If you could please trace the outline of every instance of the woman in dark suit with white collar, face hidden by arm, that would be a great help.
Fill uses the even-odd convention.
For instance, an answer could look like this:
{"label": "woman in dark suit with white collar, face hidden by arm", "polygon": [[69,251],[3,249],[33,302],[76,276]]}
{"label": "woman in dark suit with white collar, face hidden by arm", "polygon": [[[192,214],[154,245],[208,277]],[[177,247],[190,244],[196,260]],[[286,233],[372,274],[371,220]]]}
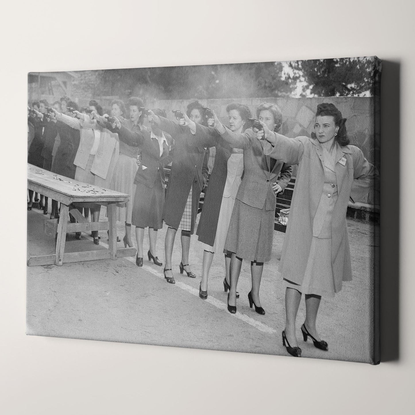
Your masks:
{"label": "woman in dark suit with white collar, face hidden by arm", "polygon": [[[160,113],[161,110],[154,110]],[[164,112],[164,115],[166,113]],[[132,206],[132,225],[135,226],[137,239],[137,266],[143,266],[144,229],[149,228],[150,249],[147,252],[149,261],[163,265],[156,255],[157,230],[163,227],[164,206],[164,166],[171,162],[171,136],[151,124],[151,132],[141,130],[132,132],[115,118],[120,141],[129,146],[140,147],[141,165],[134,178],[136,191]]]}

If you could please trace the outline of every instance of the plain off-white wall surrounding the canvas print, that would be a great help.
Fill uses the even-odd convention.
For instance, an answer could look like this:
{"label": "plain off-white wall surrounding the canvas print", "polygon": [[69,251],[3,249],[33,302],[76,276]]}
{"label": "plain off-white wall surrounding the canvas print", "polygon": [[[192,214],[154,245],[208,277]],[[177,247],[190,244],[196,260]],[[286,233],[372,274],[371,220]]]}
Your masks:
{"label": "plain off-white wall surrounding the canvas print", "polygon": [[[7,100],[3,99],[0,104],[4,155],[0,207],[1,413],[413,413],[413,2],[6,2],[2,12],[5,18],[0,27],[3,39],[0,79],[3,98]],[[73,37],[69,37],[69,29]],[[340,361],[24,334],[26,168],[23,155],[27,151],[27,130],[22,120],[26,114],[29,71],[372,54],[400,63],[400,122],[384,114],[384,122],[392,125],[388,127],[388,136],[383,137],[383,143],[396,142],[401,149],[399,165],[395,161],[392,164],[388,154],[383,155],[383,178],[389,178],[390,184],[390,188],[384,188],[383,195],[395,209],[395,216],[382,220],[383,233],[388,228],[400,227],[399,273],[381,268],[386,272],[387,281],[399,281],[400,327],[398,331],[384,333],[391,342],[400,343],[399,361],[373,367]],[[384,71],[383,76],[383,86],[387,89],[387,84],[394,80],[388,79],[391,72]],[[398,184],[393,179],[399,171]],[[400,207],[397,207],[398,200],[388,198],[393,186],[401,188]],[[400,212],[400,223],[396,212]],[[384,243],[387,253],[395,249],[396,239]],[[47,267],[44,272],[48,272]],[[383,305],[390,301],[386,295]],[[335,307],[334,301],[332,304]],[[224,315],[224,318],[232,317]],[[386,315],[386,320],[391,319],[393,316]],[[275,342],[281,342],[281,338],[276,336]]]}

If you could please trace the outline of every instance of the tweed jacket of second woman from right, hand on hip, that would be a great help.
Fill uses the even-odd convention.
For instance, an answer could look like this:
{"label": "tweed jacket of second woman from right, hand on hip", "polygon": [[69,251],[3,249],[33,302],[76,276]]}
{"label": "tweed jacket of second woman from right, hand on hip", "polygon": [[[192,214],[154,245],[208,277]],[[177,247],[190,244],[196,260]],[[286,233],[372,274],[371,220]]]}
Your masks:
{"label": "tweed jacket of second woman from right, hand on hip", "polygon": [[[272,185],[278,181],[283,161],[277,160],[271,170],[270,157],[264,154],[264,140],[258,140],[250,128],[243,133],[235,133],[225,127],[222,139],[231,147],[244,150],[244,178],[236,198],[251,207],[275,210],[276,196]],[[291,174],[289,176],[291,178]],[[290,180],[288,175],[285,180],[279,181],[283,190],[288,184],[287,179]]]}

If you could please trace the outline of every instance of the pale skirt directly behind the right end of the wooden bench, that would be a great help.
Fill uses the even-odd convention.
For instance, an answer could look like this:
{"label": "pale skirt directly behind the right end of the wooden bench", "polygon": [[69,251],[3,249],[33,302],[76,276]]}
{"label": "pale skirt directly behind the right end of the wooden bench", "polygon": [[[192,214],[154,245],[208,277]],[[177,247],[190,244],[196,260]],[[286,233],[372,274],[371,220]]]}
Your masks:
{"label": "pale skirt directly behind the right end of the wooden bench", "polygon": [[131,223],[132,220],[132,207],[136,193],[134,178],[137,170],[136,159],[120,153],[110,183],[112,190],[130,195],[127,202],[117,203],[117,220],[120,222]]}

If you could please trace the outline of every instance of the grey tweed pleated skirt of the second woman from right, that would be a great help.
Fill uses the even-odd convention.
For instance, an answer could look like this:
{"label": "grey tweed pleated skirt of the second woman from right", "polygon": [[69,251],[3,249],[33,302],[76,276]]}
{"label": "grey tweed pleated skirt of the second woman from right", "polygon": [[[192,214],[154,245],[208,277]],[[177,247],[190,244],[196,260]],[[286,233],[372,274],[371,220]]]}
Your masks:
{"label": "grey tweed pleated skirt of the second woman from right", "polygon": [[275,210],[249,206],[235,200],[225,249],[247,261],[271,259]]}

